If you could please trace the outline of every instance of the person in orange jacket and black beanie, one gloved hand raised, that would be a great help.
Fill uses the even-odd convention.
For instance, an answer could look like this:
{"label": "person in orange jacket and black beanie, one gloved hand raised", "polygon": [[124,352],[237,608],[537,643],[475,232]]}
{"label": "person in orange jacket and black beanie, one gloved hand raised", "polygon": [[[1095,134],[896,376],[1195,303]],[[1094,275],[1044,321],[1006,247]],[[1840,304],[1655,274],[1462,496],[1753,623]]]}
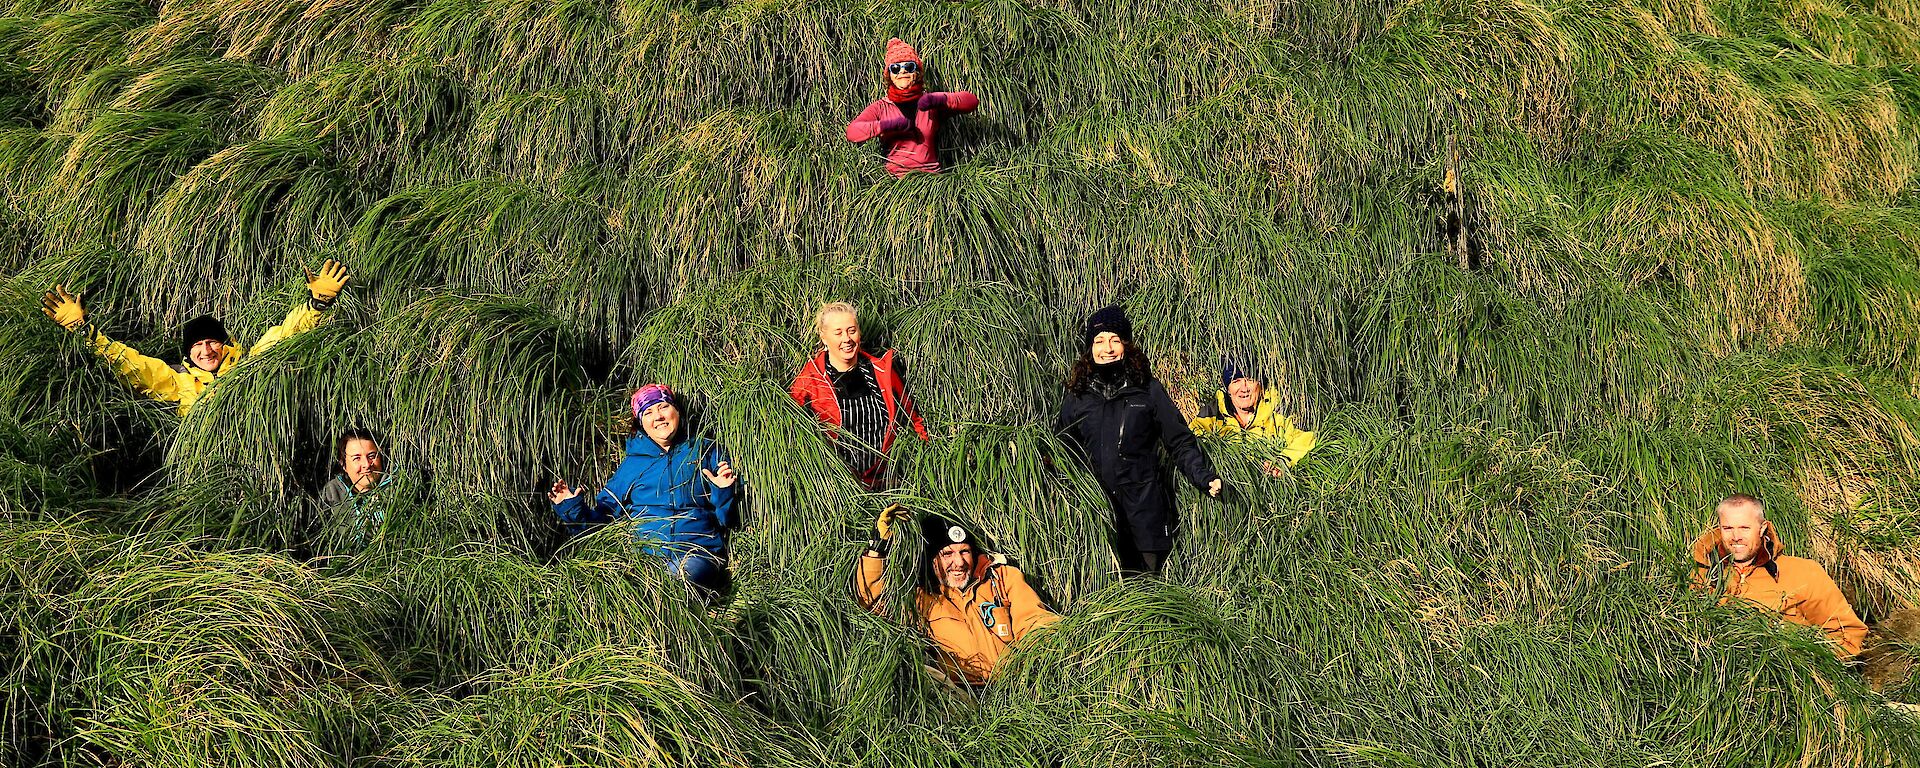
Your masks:
{"label": "person in orange jacket and black beanie, one gloved hand raised", "polygon": [[[879,513],[879,538],[860,555],[856,597],[868,611],[881,612],[887,549],[895,522],[904,516],[900,505]],[[1014,643],[1060,616],[1046,611],[1020,568],[1006,564],[1000,555],[981,551],[966,528],[939,516],[922,518],[920,528],[925,532],[925,551],[920,559],[914,612],[922,630],[941,647],[939,662],[948,680],[968,687],[985,685]]]}

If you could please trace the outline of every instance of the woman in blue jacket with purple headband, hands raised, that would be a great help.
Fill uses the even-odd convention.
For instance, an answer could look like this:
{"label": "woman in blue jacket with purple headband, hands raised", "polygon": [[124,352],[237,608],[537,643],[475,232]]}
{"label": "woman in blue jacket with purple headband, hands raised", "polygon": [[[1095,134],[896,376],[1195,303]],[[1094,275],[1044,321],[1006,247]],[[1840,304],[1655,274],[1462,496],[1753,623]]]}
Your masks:
{"label": "woman in blue jacket with purple headband, hands raised", "polygon": [[647,384],[634,392],[634,436],[626,459],[599,493],[584,497],[555,482],[547,492],[561,522],[624,524],[647,555],[703,591],[728,591],[726,528],[733,524],[739,474],[726,451],[707,438],[687,438],[674,392]]}

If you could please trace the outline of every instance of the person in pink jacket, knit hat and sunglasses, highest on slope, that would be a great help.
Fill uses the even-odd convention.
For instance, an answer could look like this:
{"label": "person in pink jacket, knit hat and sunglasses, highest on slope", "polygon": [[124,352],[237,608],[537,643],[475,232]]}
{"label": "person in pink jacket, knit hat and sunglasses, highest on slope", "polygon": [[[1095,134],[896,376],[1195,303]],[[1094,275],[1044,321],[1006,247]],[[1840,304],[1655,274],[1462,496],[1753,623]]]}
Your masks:
{"label": "person in pink jacket, knit hat and sunglasses, highest on slope", "polygon": [[929,94],[922,83],[920,52],[900,38],[887,40],[887,98],[868,104],[847,123],[847,140],[887,142],[887,173],[904,177],[910,171],[939,173],[939,131],[947,115],[979,109],[979,96],[966,90]]}

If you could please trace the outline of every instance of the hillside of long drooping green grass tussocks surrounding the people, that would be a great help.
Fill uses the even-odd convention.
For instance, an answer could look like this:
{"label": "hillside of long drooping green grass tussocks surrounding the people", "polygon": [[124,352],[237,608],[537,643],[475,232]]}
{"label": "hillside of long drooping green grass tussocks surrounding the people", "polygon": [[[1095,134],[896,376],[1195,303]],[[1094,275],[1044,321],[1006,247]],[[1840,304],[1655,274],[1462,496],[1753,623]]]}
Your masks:
{"label": "hillside of long drooping green grass tussocks surrounding the people", "polygon": [[[981,94],[950,173],[843,138],[887,36]],[[1916,67],[1912,0],[0,0],[0,764],[1920,764],[1891,632],[1682,588],[1740,490],[1914,609]],[[324,257],[184,419],[38,311],[252,340]],[[824,300],[912,361],[897,495],[1068,616],[979,701],[849,595]],[[1208,444],[1165,584],[1048,434],[1116,300],[1321,436]],[[653,380],[745,476],[712,616],[541,495]],[[365,547],[351,424],[430,492]]]}

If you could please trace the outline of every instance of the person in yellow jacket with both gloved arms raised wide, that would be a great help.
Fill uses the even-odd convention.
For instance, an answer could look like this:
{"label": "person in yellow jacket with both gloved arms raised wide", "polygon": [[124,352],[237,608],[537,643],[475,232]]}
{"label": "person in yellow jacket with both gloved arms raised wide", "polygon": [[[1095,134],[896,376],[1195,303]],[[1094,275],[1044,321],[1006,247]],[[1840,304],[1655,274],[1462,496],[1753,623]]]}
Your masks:
{"label": "person in yellow jacket with both gloved arms raised wide", "polygon": [[180,326],[179,363],[142,355],[138,349],[108,338],[100,328],[86,323],[86,309],[81,298],[67,292],[67,286],[54,286],[40,300],[40,311],[71,332],[84,332],[88,346],[104,357],[121,378],[165,403],[180,403],[180,413],[194,407],[194,401],[207,392],[213,382],[225,376],[242,359],[259,355],[275,344],[313,330],[321,323],[321,313],[332,307],[340,292],[346,290],[348,269],[340,261],[326,259],[321,273],[307,273],[307,300],[296,305],[280,324],[269,328],[253,348],[234,344],[227,326],[211,315],[200,315]]}

